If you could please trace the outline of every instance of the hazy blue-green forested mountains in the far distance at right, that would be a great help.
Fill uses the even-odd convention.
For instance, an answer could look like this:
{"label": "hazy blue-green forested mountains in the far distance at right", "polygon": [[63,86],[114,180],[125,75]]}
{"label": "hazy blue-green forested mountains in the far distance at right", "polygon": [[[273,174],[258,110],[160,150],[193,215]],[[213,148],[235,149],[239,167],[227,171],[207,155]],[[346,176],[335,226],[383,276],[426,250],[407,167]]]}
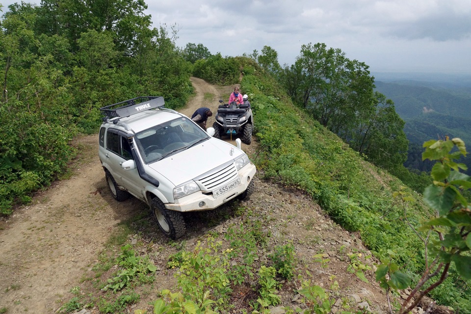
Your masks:
{"label": "hazy blue-green forested mountains in the far distance at right", "polygon": [[[381,75],[380,75],[381,77]],[[421,162],[423,142],[449,136],[459,137],[471,147],[471,76],[462,79],[430,76],[428,81],[382,76],[376,89],[394,102],[405,121],[410,141],[406,167],[429,171],[431,164]],[[424,79],[424,78],[423,78]],[[471,158],[463,160],[471,169]],[[468,171],[470,172],[470,170]]]}

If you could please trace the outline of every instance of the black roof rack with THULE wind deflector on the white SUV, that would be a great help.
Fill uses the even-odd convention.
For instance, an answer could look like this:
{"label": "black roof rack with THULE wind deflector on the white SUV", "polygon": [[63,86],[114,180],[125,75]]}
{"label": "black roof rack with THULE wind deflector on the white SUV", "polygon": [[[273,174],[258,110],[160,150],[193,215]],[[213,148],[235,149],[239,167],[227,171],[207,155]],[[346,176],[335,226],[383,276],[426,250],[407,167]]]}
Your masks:
{"label": "black roof rack with THULE wind deflector on the white SUV", "polygon": [[165,105],[165,101],[161,96],[143,96],[101,107],[100,112],[109,118],[129,117],[145,110],[160,108],[163,105]]}

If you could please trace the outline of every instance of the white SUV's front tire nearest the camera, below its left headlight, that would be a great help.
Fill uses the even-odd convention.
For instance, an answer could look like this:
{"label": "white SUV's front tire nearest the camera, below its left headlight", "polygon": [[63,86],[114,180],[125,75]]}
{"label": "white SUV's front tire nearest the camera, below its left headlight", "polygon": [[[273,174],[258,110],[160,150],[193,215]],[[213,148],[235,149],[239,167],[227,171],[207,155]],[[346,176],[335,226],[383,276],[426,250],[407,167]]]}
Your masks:
{"label": "white SUV's front tire nearest the camera, below its left headlight", "polygon": [[186,233],[186,224],[180,211],[166,209],[158,197],[152,200],[151,210],[158,227],[168,237],[175,240]]}

